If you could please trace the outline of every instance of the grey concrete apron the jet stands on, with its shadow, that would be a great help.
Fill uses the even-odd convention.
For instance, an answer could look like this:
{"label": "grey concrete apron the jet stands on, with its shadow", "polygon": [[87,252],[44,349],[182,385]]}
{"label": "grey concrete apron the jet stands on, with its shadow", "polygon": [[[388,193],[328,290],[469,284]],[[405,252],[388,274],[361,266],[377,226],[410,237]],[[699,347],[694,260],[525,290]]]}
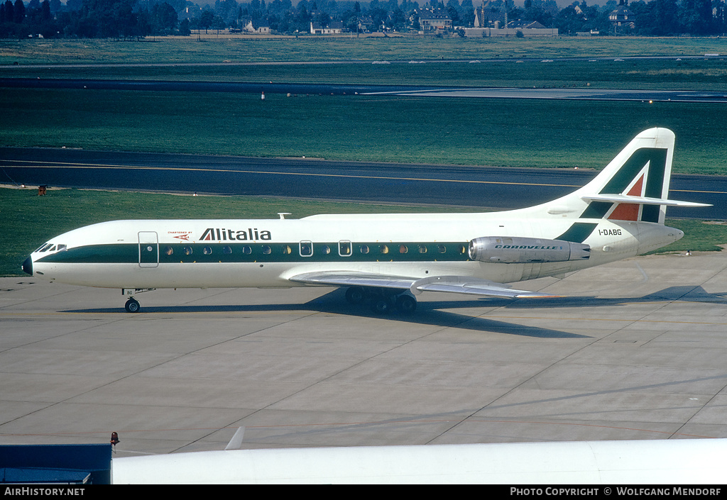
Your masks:
{"label": "grey concrete apron the jet stands on, with its shadow", "polygon": [[726,438],[727,259],[521,283],[560,299],[118,290],[0,278],[0,443],[242,448]]}

